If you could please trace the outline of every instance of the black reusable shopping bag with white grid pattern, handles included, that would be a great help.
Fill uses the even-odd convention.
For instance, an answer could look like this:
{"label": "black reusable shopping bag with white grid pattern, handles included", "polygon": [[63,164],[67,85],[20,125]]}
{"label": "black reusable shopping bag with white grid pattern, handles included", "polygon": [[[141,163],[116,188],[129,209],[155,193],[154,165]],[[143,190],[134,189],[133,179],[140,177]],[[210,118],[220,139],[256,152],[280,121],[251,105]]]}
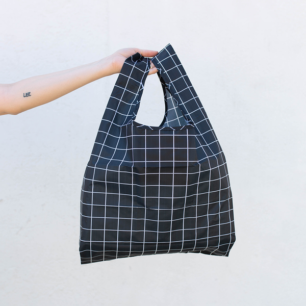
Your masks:
{"label": "black reusable shopping bag with white grid pattern, handles included", "polygon": [[123,64],[81,192],[81,263],[146,254],[228,256],[235,242],[226,161],[171,45],[152,62],[165,97],[160,126],[135,122],[150,59]]}

